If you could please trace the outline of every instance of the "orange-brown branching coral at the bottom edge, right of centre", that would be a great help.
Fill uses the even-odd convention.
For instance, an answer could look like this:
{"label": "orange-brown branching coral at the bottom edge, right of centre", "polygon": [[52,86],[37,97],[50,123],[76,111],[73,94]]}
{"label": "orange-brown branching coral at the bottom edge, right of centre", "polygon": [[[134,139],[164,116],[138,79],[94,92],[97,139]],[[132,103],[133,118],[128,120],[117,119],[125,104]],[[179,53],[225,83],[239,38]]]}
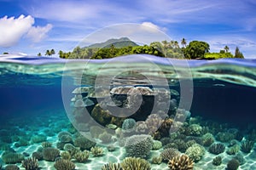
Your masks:
{"label": "orange-brown branching coral at the bottom edge, right of centre", "polygon": [[171,170],[193,170],[194,162],[189,156],[175,156],[168,161],[168,167]]}

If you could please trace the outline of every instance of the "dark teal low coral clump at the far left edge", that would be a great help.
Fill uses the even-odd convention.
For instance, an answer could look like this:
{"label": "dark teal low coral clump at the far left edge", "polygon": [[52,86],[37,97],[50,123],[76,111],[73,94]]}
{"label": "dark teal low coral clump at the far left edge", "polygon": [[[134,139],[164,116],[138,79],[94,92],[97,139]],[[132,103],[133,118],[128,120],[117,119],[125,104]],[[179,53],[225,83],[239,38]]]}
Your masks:
{"label": "dark teal low coral clump at the far left edge", "polygon": [[23,161],[24,156],[19,153],[5,151],[3,152],[2,159],[6,164],[15,164]]}

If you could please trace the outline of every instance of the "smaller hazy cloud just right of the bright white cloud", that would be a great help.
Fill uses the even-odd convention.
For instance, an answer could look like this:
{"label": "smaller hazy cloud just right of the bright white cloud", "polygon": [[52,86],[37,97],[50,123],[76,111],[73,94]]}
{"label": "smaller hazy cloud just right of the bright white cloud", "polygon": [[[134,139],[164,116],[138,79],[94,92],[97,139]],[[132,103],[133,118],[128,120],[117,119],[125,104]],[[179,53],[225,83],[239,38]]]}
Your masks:
{"label": "smaller hazy cloud just right of the bright white cloud", "polygon": [[41,26],[32,26],[31,29],[27,32],[26,37],[31,38],[32,42],[40,42],[48,31],[52,29],[52,25],[48,24],[44,27]]}

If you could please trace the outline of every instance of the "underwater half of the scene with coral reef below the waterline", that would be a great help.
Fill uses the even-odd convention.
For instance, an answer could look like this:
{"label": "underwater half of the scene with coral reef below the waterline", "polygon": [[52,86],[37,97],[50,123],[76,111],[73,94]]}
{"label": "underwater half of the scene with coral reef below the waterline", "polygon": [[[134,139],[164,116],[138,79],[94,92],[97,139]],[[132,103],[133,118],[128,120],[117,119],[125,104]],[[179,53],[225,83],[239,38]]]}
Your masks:
{"label": "underwater half of the scene with coral reef below the waterline", "polygon": [[254,170],[256,59],[0,57],[6,170]]}

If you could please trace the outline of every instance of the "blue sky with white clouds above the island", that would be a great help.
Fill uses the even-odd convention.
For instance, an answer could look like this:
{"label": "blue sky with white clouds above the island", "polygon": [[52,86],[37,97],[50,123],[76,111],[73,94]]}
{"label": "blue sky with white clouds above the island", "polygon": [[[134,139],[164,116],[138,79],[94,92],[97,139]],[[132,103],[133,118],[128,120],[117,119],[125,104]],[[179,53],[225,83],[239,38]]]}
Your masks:
{"label": "blue sky with white clouds above the island", "polygon": [[255,0],[0,0],[0,54],[71,51],[81,42],[129,37],[240,48],[256,58]]}

